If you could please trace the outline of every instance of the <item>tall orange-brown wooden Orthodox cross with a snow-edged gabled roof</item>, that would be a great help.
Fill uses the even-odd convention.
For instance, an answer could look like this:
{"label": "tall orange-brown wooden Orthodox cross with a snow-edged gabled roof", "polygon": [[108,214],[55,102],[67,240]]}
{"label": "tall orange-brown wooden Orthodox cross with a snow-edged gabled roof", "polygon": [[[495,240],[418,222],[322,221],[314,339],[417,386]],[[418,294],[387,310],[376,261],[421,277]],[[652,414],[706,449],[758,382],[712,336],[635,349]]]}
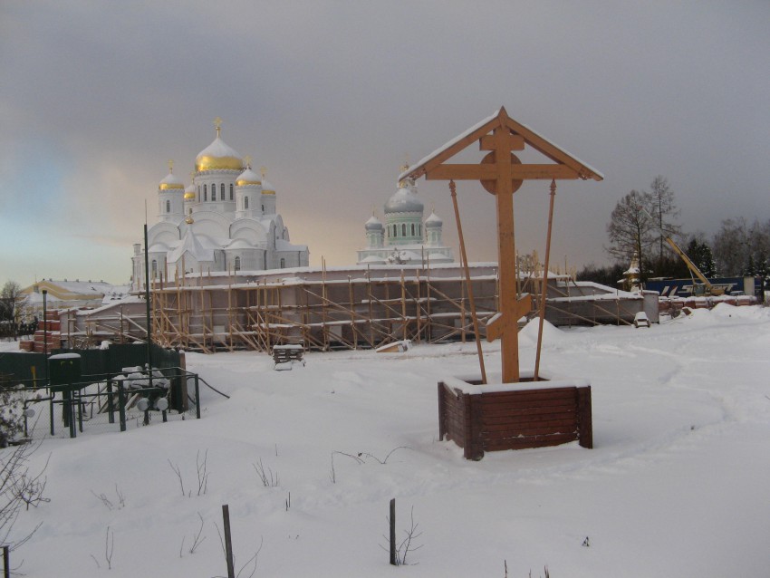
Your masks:
{"label": "tall orange-brown wooden Orthodox cross with a snow-edged gabled roof", "polygon": [[[478,140],[481,150],[489,150],[479,164],[445,164],[458,152]],[[522,164],[511,151],[526,145],[538,150],[552,163]],[[514,193],[528,179],[593,178],[602,174],[565,150],[544,139],[534,130],[508,117],[505,108],[482,120],[443,148],[431,153],[403,172],[402,178],[441,180],[479,180],[495,195],[497,213],[497,262],[500,275],[500,312],[487,324],[488,341],[501,339],[503,383],[519,381],[519,351],[517,321],[531,310],[530,296],[516,295],[516,265],[514,238]]]}

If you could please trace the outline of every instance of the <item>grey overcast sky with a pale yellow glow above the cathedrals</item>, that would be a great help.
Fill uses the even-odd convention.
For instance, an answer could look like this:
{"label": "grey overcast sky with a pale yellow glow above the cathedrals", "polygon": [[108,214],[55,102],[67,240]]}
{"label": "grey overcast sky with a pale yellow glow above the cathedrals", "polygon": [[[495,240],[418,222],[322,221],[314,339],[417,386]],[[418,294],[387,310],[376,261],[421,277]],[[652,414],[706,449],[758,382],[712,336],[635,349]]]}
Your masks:
{"label": "grey overcast sky with a pale yellow glow above the cathedrals", "polygon": [[[151,224],[217,116],[311,265],[354,263],[404,161],[501,105],[605,175],[559,183],[556,262],[609,262],[612,208],[656,175],[688,232],[765,221],[768,31],[766,0],[2,0],[0,284],[128,282],[145,201]],[[418,184],[457,255],[447,183]],[[494,198],[457,195],[470,259],[496,260]],[[520,252],[543,255],[547,208],[545,181],[515,194]]]}

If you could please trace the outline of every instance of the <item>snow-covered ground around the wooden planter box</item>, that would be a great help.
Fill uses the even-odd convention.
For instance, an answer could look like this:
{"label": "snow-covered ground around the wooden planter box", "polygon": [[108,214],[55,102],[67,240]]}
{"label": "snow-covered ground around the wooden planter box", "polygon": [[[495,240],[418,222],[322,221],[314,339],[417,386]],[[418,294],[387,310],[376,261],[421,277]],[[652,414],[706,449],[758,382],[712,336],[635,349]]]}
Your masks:
{"label": "snow-covered ground around the wooden planter box", "polygon": [[[255,576],[504,578],[505,563],[511,578],[545,565],[553,578],[770,574],[770,309],[546,330],[544,370],[592,383],[592,449],[471,462],[438,440],[437,382],[477,371],[470,342],[311,353],[293,371],[265,354],[188,354],[231,399],[203,388],[200,420],[46,440],[31,467],[50,456],[51,501],[22,514],[17,535],[43,525],[12,563],[26,576],[226,576],[228,504],[236,573],[261,544]],[[523,368],[535,338],[533,323]],[[485,352],[499,368],[499,347]],[[421,532],[399,568],[380,547],[391,497],[399,536],[412,509]]]}

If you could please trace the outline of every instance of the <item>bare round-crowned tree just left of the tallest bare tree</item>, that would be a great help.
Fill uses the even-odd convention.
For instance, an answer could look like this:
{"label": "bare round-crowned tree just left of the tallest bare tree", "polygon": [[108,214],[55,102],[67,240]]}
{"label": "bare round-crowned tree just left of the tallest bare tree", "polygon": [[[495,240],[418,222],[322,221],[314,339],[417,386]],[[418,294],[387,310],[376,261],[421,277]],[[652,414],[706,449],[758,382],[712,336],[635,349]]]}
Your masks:
{"label": "bare round-crowned tree just left of the tallest bare tree", "polygon": [[644,264],[649,261],[648,250],[657,238],[657,224],[650,216],[651,202],[650,193],[632,190],[612,209],[611,220],[607,225],[607,235],[610,237],[607,252],[625,264],[630,263],[636,254],[642,269],[642,280],[646,277]]}

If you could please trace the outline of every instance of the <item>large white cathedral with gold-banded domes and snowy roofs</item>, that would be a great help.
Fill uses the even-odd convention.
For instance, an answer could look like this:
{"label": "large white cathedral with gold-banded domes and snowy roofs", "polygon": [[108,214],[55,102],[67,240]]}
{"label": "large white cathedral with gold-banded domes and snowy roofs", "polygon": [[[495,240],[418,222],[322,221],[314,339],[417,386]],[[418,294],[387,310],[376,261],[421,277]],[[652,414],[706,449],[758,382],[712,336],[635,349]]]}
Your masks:
{"label": "large white cathedral with gold-banded domes and snowy roofs", "polygon": [[[275,189],[220,137],[195,159],[185,188],[169,166],[158,186],[158,222],[148,228],[149,276],[261,271],[308,265],[307,246],[293,245],[276,213]],[[131,289],[144,285],[141,245],[134,245]]]}

